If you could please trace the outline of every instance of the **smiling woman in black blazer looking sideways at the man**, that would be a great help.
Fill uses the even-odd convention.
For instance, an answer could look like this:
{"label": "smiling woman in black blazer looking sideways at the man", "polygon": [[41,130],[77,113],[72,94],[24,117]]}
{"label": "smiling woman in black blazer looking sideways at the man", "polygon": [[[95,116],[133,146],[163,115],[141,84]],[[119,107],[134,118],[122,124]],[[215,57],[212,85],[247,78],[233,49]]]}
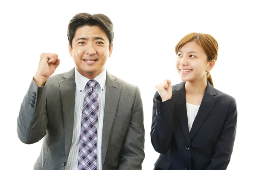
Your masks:
{"label": "smiling woman in black blazer looking sideways at the man", "polygon": [[213,88],[210,71],[218,43],[209,34],[191,33],[175,47],[182,82],[156,85],[151,143],[159,158],[154,170],[226,170],[236,135],[232,96]]}

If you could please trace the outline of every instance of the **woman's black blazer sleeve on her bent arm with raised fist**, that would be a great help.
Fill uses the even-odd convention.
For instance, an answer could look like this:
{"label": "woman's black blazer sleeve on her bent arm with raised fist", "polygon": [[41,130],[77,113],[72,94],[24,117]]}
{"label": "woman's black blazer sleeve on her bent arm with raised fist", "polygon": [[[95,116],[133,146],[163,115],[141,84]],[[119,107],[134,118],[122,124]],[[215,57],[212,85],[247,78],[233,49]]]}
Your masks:
{"label": "woman's black blazer sleeve on her bent arm with raised fist", "polygon": [[162,102],[161,97],[156,92],[153,98],[152,113],[151,143],[155,151],[166,154],[171,145],[173,132],[173,98]]}

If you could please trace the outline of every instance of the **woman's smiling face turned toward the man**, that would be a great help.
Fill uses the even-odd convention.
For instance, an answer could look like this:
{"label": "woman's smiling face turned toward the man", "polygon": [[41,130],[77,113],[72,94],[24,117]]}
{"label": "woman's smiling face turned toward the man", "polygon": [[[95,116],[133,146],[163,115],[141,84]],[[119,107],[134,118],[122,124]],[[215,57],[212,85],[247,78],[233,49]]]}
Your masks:
{"label": "woman's smiling face turned toward the man", "polygon": [[187,42],[177,53],[176,68],[183,82],[206,80],[206,74],[213,65],[207,60],[207,55],[195,41]]}

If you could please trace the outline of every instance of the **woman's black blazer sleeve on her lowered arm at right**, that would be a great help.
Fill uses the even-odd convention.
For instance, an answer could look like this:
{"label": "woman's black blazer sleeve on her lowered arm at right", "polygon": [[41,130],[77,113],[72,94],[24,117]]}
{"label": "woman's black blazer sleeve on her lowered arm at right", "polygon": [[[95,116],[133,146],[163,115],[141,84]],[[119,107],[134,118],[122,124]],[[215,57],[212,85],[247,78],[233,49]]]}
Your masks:
{"label": "woman's black blazer sleeve on her lowered arm at right", "polygon": [[230,162],[233,151],[235,136],[236,136],[236,122],[237,122],[237,106],[236,100],[233,99],[223,128],[215,145],[214,154],[211,163],[206,170],[226,170]]}

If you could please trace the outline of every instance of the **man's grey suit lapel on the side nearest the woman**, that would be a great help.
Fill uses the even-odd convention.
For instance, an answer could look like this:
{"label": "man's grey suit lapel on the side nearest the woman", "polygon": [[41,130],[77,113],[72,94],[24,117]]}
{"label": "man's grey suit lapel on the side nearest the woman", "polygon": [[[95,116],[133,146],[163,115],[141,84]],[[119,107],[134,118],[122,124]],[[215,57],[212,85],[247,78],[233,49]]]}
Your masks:
{"label": "man's grey suit lapel on the side nearest the woman", "polygon": [[112,76],[107,71],[105,109],[102,132],[102,164],[105,161],[108,148],[108,141],[111,134],[113,122],[116,116],[116,108],[118,105],[121,91],[120,83],[116,82],[115,79],[116,77]]}

